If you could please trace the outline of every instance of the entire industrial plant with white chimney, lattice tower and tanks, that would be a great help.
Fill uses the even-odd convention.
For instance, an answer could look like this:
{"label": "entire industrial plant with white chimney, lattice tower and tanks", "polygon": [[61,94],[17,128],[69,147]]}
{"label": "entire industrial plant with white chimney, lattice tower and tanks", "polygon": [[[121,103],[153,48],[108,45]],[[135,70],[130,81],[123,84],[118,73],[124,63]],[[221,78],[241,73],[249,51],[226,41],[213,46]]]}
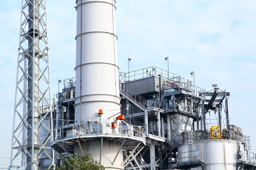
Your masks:
{"label": "entire industrial plant with white chimney, lattice tower and tanks", "polygon": [[76,77],[59,80],[52,103],[45,3],[24,2],[10,170],[87,153],[106,170],[256,169],[250,136],[229,119],[229,92],[155,66],[119,71],[116,0],[76,0]]}

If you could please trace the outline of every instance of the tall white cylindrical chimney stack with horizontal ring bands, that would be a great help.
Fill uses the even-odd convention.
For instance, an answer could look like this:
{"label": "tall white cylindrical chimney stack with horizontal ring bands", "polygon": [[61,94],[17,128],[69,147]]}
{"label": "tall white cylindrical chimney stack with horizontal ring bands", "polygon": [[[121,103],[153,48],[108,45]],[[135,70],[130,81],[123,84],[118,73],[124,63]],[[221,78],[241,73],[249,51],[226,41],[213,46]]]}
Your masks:
{"label": "tall white cylindrical chimney stack with horizontal ring bands", "polygon": [[[105,127],[106,123],[113,122],[113,118],[108,117],[120,112],[115,3],[115,0],[76,0],[75,121],[86,127],[87,118],[102,122]],[[81,147],[98,162],[101,153],[101,164],[106,170],[123,170],[122,152],[112,164],[119,143],[103,141],[101,152],[97,140],[82,143]],[[82,154],[79,145],[75,153]]]}

